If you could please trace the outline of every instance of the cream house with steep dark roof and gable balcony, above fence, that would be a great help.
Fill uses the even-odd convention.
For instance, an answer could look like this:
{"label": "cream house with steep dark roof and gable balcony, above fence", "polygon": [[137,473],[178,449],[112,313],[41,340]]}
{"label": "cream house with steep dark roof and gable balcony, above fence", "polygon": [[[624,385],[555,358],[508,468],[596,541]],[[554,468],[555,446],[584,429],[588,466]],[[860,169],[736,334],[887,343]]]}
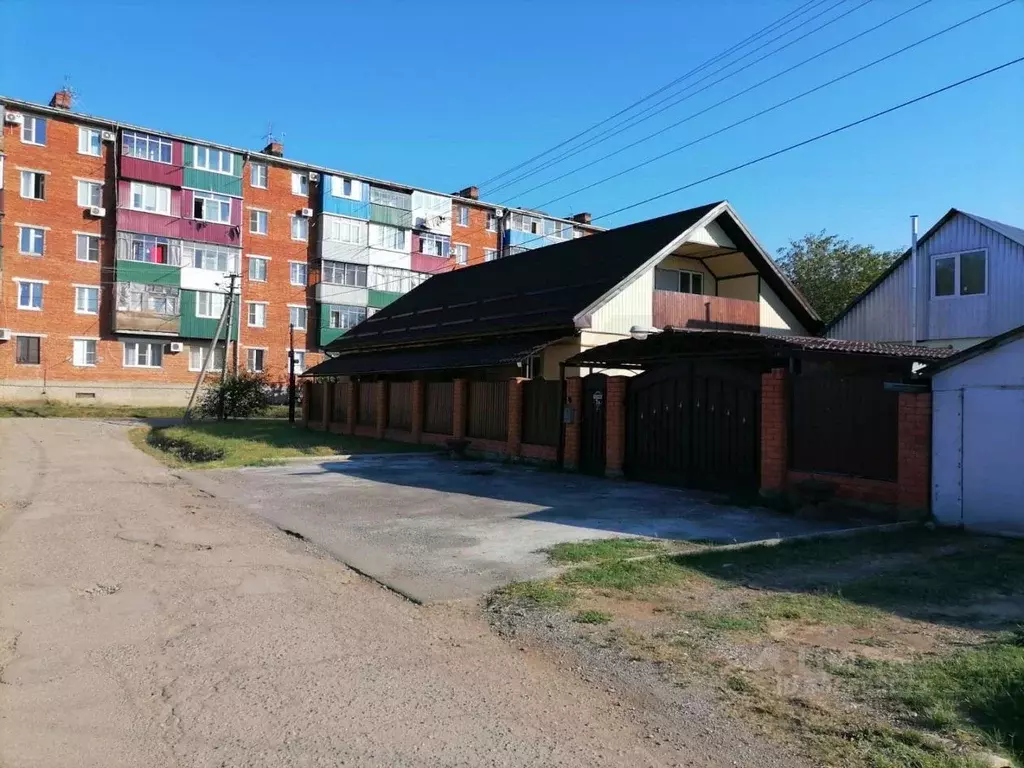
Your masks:
{"label": "cream house with steep dark roof and gable balcony, above fence", "polygon": [[719,202],[436,275],[305,375],[554,379],[581,351],[668,326],[803,336],[821,323]]}

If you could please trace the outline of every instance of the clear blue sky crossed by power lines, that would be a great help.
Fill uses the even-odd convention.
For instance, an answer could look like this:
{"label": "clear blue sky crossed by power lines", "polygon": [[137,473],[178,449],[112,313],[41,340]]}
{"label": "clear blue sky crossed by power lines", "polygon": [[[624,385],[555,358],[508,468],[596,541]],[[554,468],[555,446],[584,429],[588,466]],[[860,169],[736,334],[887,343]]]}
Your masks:
{"label": "clear blue sky crossed by power lines", "polygon": [[[841,0],[821,0],[773,38]],[[685,74],[805,0],[83,3],[0,0],[0,94],[45,101],[66,75],[94,115],[451,191],[479,183]],[[519,195],[681,120],[921,0],[845,0],[777,42],[676,89],[687,95],[784,51],[522,182],[483,195],[537,206],[814,87],[1000,0],[932,0],[887,27],[682,126]],[[854,10],[855,9],[855,10]],[[548,207],[595,216],[1021,55],[1024,2],[796,103]],[[42,48],[40,47],[42,46]],[[40,51],[43,51],[41,53]],[[717,73],[717,74],[713,74]],[[699,84],[699,77],[710,77]],[[601,220],[728,199],[774,251],[826,229],[902,248],[907,217],[948,208],[1024,225],[1024,65],[847,133]],[[609,124],[610,125],[610,124]],[[549,157],[555,157],[554,155]],[[511,177],[509,177],[511,178]],[[496,186],[492,184],[492,186]]]}

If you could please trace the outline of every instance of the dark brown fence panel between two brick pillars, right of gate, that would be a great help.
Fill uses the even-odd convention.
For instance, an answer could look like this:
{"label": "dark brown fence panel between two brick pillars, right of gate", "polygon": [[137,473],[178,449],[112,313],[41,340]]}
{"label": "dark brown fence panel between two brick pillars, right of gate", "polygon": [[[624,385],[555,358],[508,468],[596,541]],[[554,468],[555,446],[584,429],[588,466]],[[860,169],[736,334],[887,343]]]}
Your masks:
{"label": "dark brown fence panel between two brick pillars, right of gate", "polygon": [[790,466],[895,480],[899,395],[879,377],[793,377]]}

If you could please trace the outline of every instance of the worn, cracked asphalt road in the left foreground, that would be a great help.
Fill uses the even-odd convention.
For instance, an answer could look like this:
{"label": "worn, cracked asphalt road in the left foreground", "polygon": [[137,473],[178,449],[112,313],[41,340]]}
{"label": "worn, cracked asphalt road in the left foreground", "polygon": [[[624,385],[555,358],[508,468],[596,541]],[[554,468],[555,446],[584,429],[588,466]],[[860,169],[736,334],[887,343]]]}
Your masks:
{"label": "worn, cracked asphalt road in the left foreground", "polygon": [[0,765],[794,765],[420,607],[96,421],[0,420]]}

